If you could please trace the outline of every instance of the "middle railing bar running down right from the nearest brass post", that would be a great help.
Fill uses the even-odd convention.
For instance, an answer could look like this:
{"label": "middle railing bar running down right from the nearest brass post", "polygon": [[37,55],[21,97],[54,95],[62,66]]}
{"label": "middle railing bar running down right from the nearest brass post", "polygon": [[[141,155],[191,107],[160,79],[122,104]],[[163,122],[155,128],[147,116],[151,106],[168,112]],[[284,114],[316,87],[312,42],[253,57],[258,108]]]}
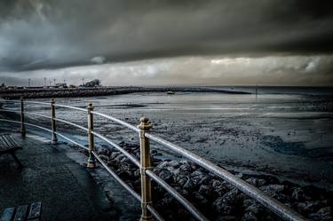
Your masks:
{"label": "middle railing bar running down right from the nearest brass post", "polygon": [[162,178],[158,177],[153,171],[146,170],[146,174],[155,180],[155,182],[161,185],[168,193],[170,193],[177,201],[179,201],[197,220],[208,221],[209,219],[204,217],[202,213],[194,208],[191,202],[187,201],[184,196],[179,194],[174,188],[167,184]]}

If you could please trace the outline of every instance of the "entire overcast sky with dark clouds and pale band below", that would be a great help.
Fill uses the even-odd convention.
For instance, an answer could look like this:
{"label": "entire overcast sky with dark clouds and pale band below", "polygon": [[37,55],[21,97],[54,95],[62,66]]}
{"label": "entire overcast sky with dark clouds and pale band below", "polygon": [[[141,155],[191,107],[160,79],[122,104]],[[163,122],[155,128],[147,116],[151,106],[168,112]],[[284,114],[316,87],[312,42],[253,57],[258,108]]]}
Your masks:
{"label": "entire overcast sky with dark clouds and pale band below", "polygon": [[333,1],[1,0],[0,83],[333,85]]}

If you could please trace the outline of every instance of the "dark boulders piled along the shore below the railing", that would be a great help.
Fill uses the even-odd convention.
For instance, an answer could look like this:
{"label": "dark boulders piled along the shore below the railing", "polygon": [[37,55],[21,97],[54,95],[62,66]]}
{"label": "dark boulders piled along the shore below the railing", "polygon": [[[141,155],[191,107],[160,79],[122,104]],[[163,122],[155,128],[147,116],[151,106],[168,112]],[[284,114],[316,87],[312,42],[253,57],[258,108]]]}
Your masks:
{"label": "dark boulders piled along the shore below the railing", "polygon": [[[120,143],[120,146],[139,160],[139,146]],[[140,193],[139,169],[119,151],[108,146],[98,148],[100,158],[115,170],[127,184]],[[87,153],[85,153],[87,154]],[[186,160],[161,160],[161,154],[152,151],[154,172],[191,201],[210,220],[281,220],[257,201],[229,185],[226,181]],[[333,220],[333,193],[313,185],[301,186],[280,181],[272,176],[234,173],[251,185],[281,201],[309,220]],[[153,182],[153,201],[166,220],[194,220],[178,201]]]}

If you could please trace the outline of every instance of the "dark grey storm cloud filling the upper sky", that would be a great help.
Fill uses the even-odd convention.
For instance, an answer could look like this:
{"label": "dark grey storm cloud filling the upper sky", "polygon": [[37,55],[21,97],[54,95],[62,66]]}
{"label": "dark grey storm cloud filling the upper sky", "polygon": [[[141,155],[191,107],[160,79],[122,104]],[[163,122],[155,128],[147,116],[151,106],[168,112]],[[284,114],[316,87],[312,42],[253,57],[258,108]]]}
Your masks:
{"label": "dark grey storm cloud filling the upper sky", "polygon": [[0,70],[333,52],[333,1],[2,0]]}

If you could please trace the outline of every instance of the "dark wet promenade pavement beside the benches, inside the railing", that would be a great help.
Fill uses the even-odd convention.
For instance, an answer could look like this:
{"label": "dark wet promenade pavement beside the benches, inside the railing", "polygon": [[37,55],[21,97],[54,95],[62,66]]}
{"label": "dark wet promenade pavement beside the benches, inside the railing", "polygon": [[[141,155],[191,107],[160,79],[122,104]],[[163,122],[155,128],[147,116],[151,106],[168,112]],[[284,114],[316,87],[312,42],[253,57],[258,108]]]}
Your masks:
{"label": "dark wet promenade pavement beside the benches, inside the railing", "polygon": [[11,155],[0,156],[0,211],[41,201],[44,221],[116,219],[112,203],[89,171],[69,159],[61,145],[11,134],[23,147],[16,155],[24,167],[20,169]]}

